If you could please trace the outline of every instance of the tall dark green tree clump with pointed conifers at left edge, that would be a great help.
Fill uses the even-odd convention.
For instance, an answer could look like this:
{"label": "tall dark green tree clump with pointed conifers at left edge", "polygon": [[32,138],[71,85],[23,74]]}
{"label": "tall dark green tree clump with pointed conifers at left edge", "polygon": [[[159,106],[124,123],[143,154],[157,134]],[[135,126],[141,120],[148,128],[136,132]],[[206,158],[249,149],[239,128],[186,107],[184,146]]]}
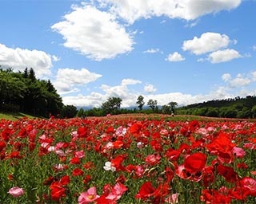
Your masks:
{"label": "tall dark green tree clump with pointed conifers at left edge", "polygon": [[12,69],[0,68],[0,111],[66,117],[74,108],[62,103],[50,80],[38,80],[34,69],[14,73]]}

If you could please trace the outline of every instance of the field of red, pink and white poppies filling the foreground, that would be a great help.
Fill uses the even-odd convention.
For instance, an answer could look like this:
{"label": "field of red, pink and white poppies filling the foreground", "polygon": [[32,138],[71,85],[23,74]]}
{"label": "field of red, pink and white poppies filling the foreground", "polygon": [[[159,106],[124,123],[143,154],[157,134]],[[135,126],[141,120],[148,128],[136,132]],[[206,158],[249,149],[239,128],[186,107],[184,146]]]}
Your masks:
{"label": "field of red, pink and white poppies filling the foreground", "polygon": [[256,203],[256,123],[0,120],[0,203]]}

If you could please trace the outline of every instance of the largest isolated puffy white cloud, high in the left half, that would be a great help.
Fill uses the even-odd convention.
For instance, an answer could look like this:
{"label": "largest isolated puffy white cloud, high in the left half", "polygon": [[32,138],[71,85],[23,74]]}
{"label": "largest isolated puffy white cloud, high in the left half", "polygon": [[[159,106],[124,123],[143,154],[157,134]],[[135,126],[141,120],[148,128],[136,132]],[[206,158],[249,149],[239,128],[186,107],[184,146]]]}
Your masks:
{"label": "largest isolated puffy white cloud, high in the left half", "polygon": [[86,3],[73,6],[72,12],[64,16],[64,21],[51,28],[62,34],[64,46],[95,61],[114,58],[133,49],[133,34],[118,24],[114,14]]}

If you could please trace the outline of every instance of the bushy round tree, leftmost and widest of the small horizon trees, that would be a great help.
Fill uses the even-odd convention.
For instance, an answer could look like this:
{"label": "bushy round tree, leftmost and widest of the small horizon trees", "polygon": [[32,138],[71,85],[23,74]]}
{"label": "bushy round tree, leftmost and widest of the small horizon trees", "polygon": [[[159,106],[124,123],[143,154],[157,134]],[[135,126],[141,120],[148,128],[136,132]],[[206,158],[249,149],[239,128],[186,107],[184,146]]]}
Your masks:
{"label": "bushy round tree, leftmost and widest of the small horizon trees", "polygon": [[106,102],[102,104],[102,111],[104,114],[118,114],[118,110],[120,109],[122,104],[122,99],[119,97],[110,97]]}

